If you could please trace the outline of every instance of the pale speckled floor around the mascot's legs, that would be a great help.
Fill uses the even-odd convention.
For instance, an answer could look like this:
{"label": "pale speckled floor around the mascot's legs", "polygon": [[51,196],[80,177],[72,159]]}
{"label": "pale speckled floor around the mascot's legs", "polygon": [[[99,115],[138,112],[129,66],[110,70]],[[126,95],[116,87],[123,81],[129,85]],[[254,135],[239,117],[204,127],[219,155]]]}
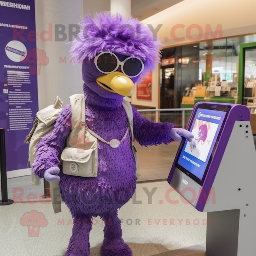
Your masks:
{"label": "pale speckled floor around the mascot's legs", "polygon": [[[72,233],[69,210],[62,204],[62,212],[54,214],[50,202],[42,204],[33,200],[33,204],[28,203],[29,194],[39,197],[43,193],[43,186],[30,185],[30,178],[26,176],[8,180],[9,198],[17,203],[0,206],[0,256],[62,256]],[[148,191],[156,188],[152,203],[148,202],[145,188]],[[119,211],[119,218],[123,222],[123,238],[131,247],[133,256],[205,255],[205,244],[202,243],[206,239],[206,225],[203,225],[206,213],[197,212],[191,205],[182,203],[178,193],[172,193],[171,198],[180,203],[169,204],[165,199],[169,188],[166,181],[140,183],[137,185],[136,196]],[[17,197],[24,202],[17,200]],[[141,202],[138,204],[138,201]],[[39,236],[29,236],[28,226],[20,224],[24,213],[32,210],[42,212],[48,222],[46,227],[40,227]],[[58,220],[62,219],[64,225],[58,225]],[[170,225],[171,219],[174,225]],[[181,225],[178,219],[183,219]],[[199,225],[193,224],[195,219],[200,220]],[[100,256],[103,225],[99,218],[93,223],[90,234],[91,255]],[[184,248],[194,244],[198,245]]]}

